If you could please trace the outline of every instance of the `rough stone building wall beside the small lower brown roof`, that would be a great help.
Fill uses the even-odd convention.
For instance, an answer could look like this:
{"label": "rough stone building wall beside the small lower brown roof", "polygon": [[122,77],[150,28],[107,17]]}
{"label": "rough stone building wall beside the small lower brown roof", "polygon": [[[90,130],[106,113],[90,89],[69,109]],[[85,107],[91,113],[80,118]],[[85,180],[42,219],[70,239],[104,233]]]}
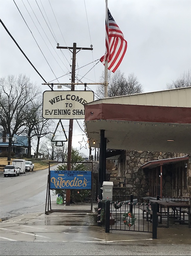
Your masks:
{"label": "rough stone building wall beside the small lower brown roof", "polygon": [[151,151],[126,151],[126,190],[139,191],[139,197],[147,196],[149,180],[141,165],[154,160],[174,157],[174,153]]}

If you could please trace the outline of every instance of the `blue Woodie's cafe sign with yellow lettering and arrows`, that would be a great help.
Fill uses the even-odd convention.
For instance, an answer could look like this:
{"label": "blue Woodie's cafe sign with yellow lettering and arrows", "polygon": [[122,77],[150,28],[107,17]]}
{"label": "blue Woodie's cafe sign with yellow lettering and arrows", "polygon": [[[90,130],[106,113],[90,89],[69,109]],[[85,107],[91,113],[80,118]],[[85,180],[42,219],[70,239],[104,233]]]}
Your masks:
{"label": "blue Woodie's cafe sign with yellow lettering and arrows", "polygon": [[91,172],[50,171],[50,189],[91,189]]}

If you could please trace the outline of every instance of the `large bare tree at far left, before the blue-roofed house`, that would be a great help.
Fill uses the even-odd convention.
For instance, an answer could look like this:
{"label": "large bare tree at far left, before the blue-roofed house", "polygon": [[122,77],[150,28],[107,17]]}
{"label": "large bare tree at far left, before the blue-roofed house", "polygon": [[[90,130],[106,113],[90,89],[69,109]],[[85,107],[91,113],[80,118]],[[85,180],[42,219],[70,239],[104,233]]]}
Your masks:
{"label": "large bare tree at far left, before the blue-roofed house", "polygon": [[25,75],[11,75],[0,79],[0,95],[0,125],[9,134],[10,161],[12,138],[25,124],[27,105],[39,97],[39,89]]}

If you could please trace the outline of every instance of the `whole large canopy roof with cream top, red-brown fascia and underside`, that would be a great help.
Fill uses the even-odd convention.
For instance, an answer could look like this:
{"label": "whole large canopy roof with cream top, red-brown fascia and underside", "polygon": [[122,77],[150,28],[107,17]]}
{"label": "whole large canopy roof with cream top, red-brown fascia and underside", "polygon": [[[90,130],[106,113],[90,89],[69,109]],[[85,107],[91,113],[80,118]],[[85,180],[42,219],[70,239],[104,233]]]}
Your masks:
{"label": "whole large canopy roof with cream top, red-brown fascia and underside", "polygon": [[[191,87],[104,98],[85,105],[89,145],[109,149],[191,152]],[[93,142],[96,144],[93,144]]]}

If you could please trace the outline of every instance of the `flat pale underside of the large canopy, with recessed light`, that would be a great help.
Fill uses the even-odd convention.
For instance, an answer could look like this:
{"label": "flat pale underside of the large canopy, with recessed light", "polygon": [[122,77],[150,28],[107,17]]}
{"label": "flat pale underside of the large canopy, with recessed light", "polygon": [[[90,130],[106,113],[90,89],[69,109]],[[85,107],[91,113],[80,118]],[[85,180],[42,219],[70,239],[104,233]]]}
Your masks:
{"label": "flat pale underside of the large canopy, with recessed light", "polygon": [[[98,120],[86,122],[86,127],[91,147],[100,147],[100,130],[105,130],[106,147],[109,149],[191,152],[190,124]],[[169,139],[174,141],[167,141]]]}

